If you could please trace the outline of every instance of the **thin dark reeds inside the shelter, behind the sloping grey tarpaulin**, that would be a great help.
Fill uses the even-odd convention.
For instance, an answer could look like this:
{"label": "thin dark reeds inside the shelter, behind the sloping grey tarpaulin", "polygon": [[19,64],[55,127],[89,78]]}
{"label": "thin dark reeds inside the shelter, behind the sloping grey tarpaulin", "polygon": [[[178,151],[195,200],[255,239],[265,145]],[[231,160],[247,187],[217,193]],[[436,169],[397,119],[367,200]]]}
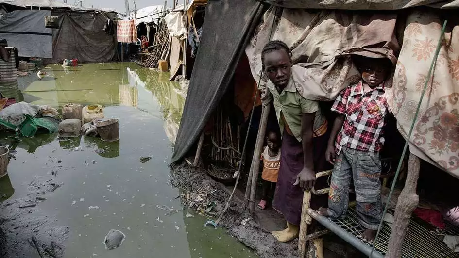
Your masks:
{"label": "thin dark reeds inside the shelter, behind the sloping grey tarpaulin", "polygon": [[234,133],[228,115],[221,107],[218,107],[213,117],[213,129],[211,132],[211,157],[213,161],[237,167],[241,158],[239,151],[240,126]]}

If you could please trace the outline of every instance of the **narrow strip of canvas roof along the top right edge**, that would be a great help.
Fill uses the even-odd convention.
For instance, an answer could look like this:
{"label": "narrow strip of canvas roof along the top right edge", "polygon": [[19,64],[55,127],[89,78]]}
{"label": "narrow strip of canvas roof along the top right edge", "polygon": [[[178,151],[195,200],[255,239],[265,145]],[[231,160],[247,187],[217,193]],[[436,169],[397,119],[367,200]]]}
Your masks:
{"label": "narrow strip of canvas roof along the top right edge", "polygon": [[259,0],[285,8],[399,10],[427,5],[434,8],[458,8],[458,0]]}

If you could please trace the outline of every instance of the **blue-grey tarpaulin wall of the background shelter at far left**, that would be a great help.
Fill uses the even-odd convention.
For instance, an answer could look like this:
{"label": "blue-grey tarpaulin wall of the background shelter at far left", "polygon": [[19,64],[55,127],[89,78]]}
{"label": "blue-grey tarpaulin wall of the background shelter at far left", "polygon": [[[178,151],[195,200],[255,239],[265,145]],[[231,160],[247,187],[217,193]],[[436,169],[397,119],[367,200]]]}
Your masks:
{"label": "blue-grey tarpaulin wall of the background shelter at far left", "polygon": [[51,11],[17,10],[1,14],[0,39],[15,47],[19,56],[51,58],[51,29],[45,27],[45,16]]}

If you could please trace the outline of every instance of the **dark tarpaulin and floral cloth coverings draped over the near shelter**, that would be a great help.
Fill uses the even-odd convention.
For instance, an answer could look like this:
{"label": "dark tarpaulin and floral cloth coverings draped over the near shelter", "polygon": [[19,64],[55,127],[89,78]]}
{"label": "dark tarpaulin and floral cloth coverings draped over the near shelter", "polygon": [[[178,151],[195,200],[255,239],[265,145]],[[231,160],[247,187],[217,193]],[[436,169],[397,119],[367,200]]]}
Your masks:
{"label": "dark tarpaulin and floral cloth coverings draped over the near shelter", "polygon": [[[459,7],[458,1],[266,0],[263,2],[273,5],[261,22],[255,15],[261,9],[260,2],[243,2],[244,8],[235,8],[242,4],[238,1],[210,1],[207,6],[207,33],[197,53],[172,162],[183,158],[196,143],[227,90],[242,51],[246,51],[257,81],[262,46],[270,39],[281,39],[293,49],[294,63],[305,67],[302,80],[311,88],[308,97],[318,100],[332,100],[358,79],[348,54],[390,58],[396,67],[393,87],[387,88],[388,101],[405,138],[415,118],[422,86],[429,80],[428,97],[424,98],[409,141],[410,151],[459,177],[459,21],[454,13],[432,8],[411,8],[403,14],[308,9],[394,10],[421,5],[445,9]],[[440,56],[432,78],[426,78],[445,18],[449,21]],[[255,33],[250,22],[258,25]],[[231,24],[229,28],[221,27],[227,23]],[[365,37],[372,30],[378,32],[377,37]],[[242,45],[247,39],[250,44]]]}

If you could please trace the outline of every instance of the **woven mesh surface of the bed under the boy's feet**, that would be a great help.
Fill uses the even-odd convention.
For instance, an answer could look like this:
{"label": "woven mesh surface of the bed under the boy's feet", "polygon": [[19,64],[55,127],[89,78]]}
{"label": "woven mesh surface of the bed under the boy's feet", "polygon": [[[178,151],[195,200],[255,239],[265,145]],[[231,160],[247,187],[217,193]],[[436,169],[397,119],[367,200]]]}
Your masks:
{"label": "woven mesh surface of the bed under the boy's feet", "polygon": [[[308,212],[309,213],[309,212]],[[392,211],[388,211],[393,215]],[[339,226],[341,230],[345,230],[347,233],[350,233],[357,241],[359,245],[364,243],[367,246],[366,242],[363,242],[360,238],[364,228],[360,226],[357,219],[357,211],[354,207],[349,207],[347,216],[344,219],[326,219],[332,221],[335,225]],[[315,215],[317,216],[317,215]],[[314,217],[314,216],[313,216]],[[324,217],[322,217],[324,218]],[[318,220],[323,226],[328,227],[327,223],[322,223],[321,220]],[[447,229],[444,231],[448,235],[459,235],[459,228],[451,224],[446,224]],[[402,246],[402,257],[403,258],[459,258],[459,254],[453,252],[443,241],[442,236],[435,230],[429,230],[428,224],[417,218],[410,218],[408,231],[405,236],[405,240]],[[328,227],[329,228],[329,227]],[[331,228],[329,228],[331,229]],[[333,231],[333,230],[332,230]],[[384,223],[381,232],[379,234],[378,240],[376,242],[375,249],[377,252],[374,252],[373,257],[381,257],[386,254],[388,251],[389,238],[391,237],[391,227],[387,223]],[[344,239],[346,240],[346,239]],[[348,241],[349,242],[349,241]],[[357,249],[360,249],[354,243],[349,242],[351,245],[354,245]],[[367,249],[368,250],[368,249]],[[362,250],[360,250],[362,251]]]}

